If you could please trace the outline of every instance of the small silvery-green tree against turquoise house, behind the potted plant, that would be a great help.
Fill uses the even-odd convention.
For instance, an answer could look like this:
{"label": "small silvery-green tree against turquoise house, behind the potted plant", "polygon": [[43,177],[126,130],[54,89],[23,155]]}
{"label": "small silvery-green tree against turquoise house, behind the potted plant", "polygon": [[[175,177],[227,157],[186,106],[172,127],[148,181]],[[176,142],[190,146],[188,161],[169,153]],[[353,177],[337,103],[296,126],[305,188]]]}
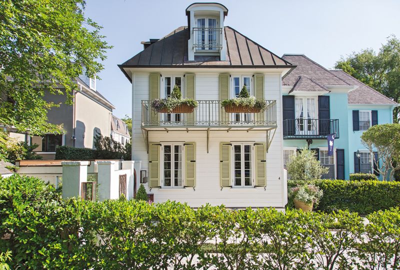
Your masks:
{"label": "small silvery-green tree against turquoise house, behind the potted plant", "polygon": [[319,179],[328,171],[329,169],[322,166],[316,159],[315,152],[306,147],[301,149],[296,156],[291,157],[287,164],[287,173],[293,181]]}

